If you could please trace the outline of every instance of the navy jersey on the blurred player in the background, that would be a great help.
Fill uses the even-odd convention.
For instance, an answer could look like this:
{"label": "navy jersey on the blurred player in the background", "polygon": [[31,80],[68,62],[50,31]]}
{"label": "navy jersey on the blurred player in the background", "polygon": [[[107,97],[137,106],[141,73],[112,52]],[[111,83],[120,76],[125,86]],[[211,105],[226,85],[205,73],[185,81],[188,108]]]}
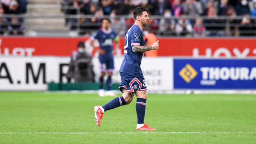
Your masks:
{"label": "navy jersey on the blurred player in the background", "polygon": [[[111,54],[112,50],[113,50],[113,41],[114,39],[117,41],[118,36],[116,31],[111,30],[109,28],[109,30],[105,30],[102,28],[102,30],[98,30],[96,31],[92,37],[92,40],[94,39],[98,39],[99,43],[100,43],[100,49],[105,51],[105,55],[109,55]],[[119,41],[119,39],[118,39]],[[103,55],[100,55],[103,56]]]}

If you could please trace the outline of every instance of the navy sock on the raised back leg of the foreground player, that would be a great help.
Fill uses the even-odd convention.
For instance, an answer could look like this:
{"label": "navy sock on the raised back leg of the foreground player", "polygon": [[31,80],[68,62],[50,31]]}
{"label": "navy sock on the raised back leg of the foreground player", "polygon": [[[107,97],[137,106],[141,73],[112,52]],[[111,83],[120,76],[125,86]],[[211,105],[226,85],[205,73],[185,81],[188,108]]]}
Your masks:
{"label": "navy sock on the raised back leg of the foreground player", "polygon": [[102,106],[102,108],[104,109],[104,111],[107,111],[107,110],[114,109],[124,105],[126,105],[126,101],[124,100],[124,97],[118,97],[111,100],[106,105]]}

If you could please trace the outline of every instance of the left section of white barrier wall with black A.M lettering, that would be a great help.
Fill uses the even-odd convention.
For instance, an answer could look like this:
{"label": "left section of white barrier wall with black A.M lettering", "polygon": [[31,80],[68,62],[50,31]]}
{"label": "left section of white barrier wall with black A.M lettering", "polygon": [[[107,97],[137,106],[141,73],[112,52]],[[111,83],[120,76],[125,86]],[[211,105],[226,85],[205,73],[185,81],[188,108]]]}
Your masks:
{"label": "left section of white barrier wall with black A.M lettering", "polygon": [[0,90],[47,90],[46,83],[59,82],[60,65],[69,61],[68,57],[1,57]]}

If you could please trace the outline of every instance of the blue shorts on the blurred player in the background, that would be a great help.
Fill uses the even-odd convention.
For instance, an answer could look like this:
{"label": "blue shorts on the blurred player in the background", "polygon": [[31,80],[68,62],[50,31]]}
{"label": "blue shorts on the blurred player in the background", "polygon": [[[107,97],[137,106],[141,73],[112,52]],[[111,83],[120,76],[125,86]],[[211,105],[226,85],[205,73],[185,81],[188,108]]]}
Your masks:
{"label": "blue shorts on the blurred player in the background", "polygon": [[115,69],[113,55],[100,56],[99,60],[101,72],[112,72]]}

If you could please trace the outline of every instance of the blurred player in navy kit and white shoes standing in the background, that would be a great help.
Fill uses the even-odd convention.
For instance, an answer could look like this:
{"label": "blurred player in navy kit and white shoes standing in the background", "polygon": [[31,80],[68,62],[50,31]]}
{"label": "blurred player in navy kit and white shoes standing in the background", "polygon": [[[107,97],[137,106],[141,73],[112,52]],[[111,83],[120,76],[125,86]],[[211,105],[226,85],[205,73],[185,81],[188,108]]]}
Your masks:
{"label": "blurred player in navy kit and white shoes standing in the background", "polygon": [[[101,74],[100,74],[100,90],[99,90],[99,96],[104,97],[110,96],[115,97],[115,93],[111,91],[111,85],[112,85],[112,74],[114,70],[114,58],[113,55],[116,53],[116,49],[119,49],[119,37],[117,33],[114,30],[111,30],[110,28],[110,20],[109,19],[103,19],[102,20],[102,29],[96,31],[91,37],[90,44],[93,47],[93,49],[97,52],[99,52],[99,60],[101,63]],[[93,45],[93,41],[95,39],[98,39],[100,43],[100,49],[97,49]],[[113,50],[113,40],[116,42],[116,49]],[[103,90],[103,77],[105,76],[105,73],[108,73],[108,79],[107,79],[107,91]]]}

